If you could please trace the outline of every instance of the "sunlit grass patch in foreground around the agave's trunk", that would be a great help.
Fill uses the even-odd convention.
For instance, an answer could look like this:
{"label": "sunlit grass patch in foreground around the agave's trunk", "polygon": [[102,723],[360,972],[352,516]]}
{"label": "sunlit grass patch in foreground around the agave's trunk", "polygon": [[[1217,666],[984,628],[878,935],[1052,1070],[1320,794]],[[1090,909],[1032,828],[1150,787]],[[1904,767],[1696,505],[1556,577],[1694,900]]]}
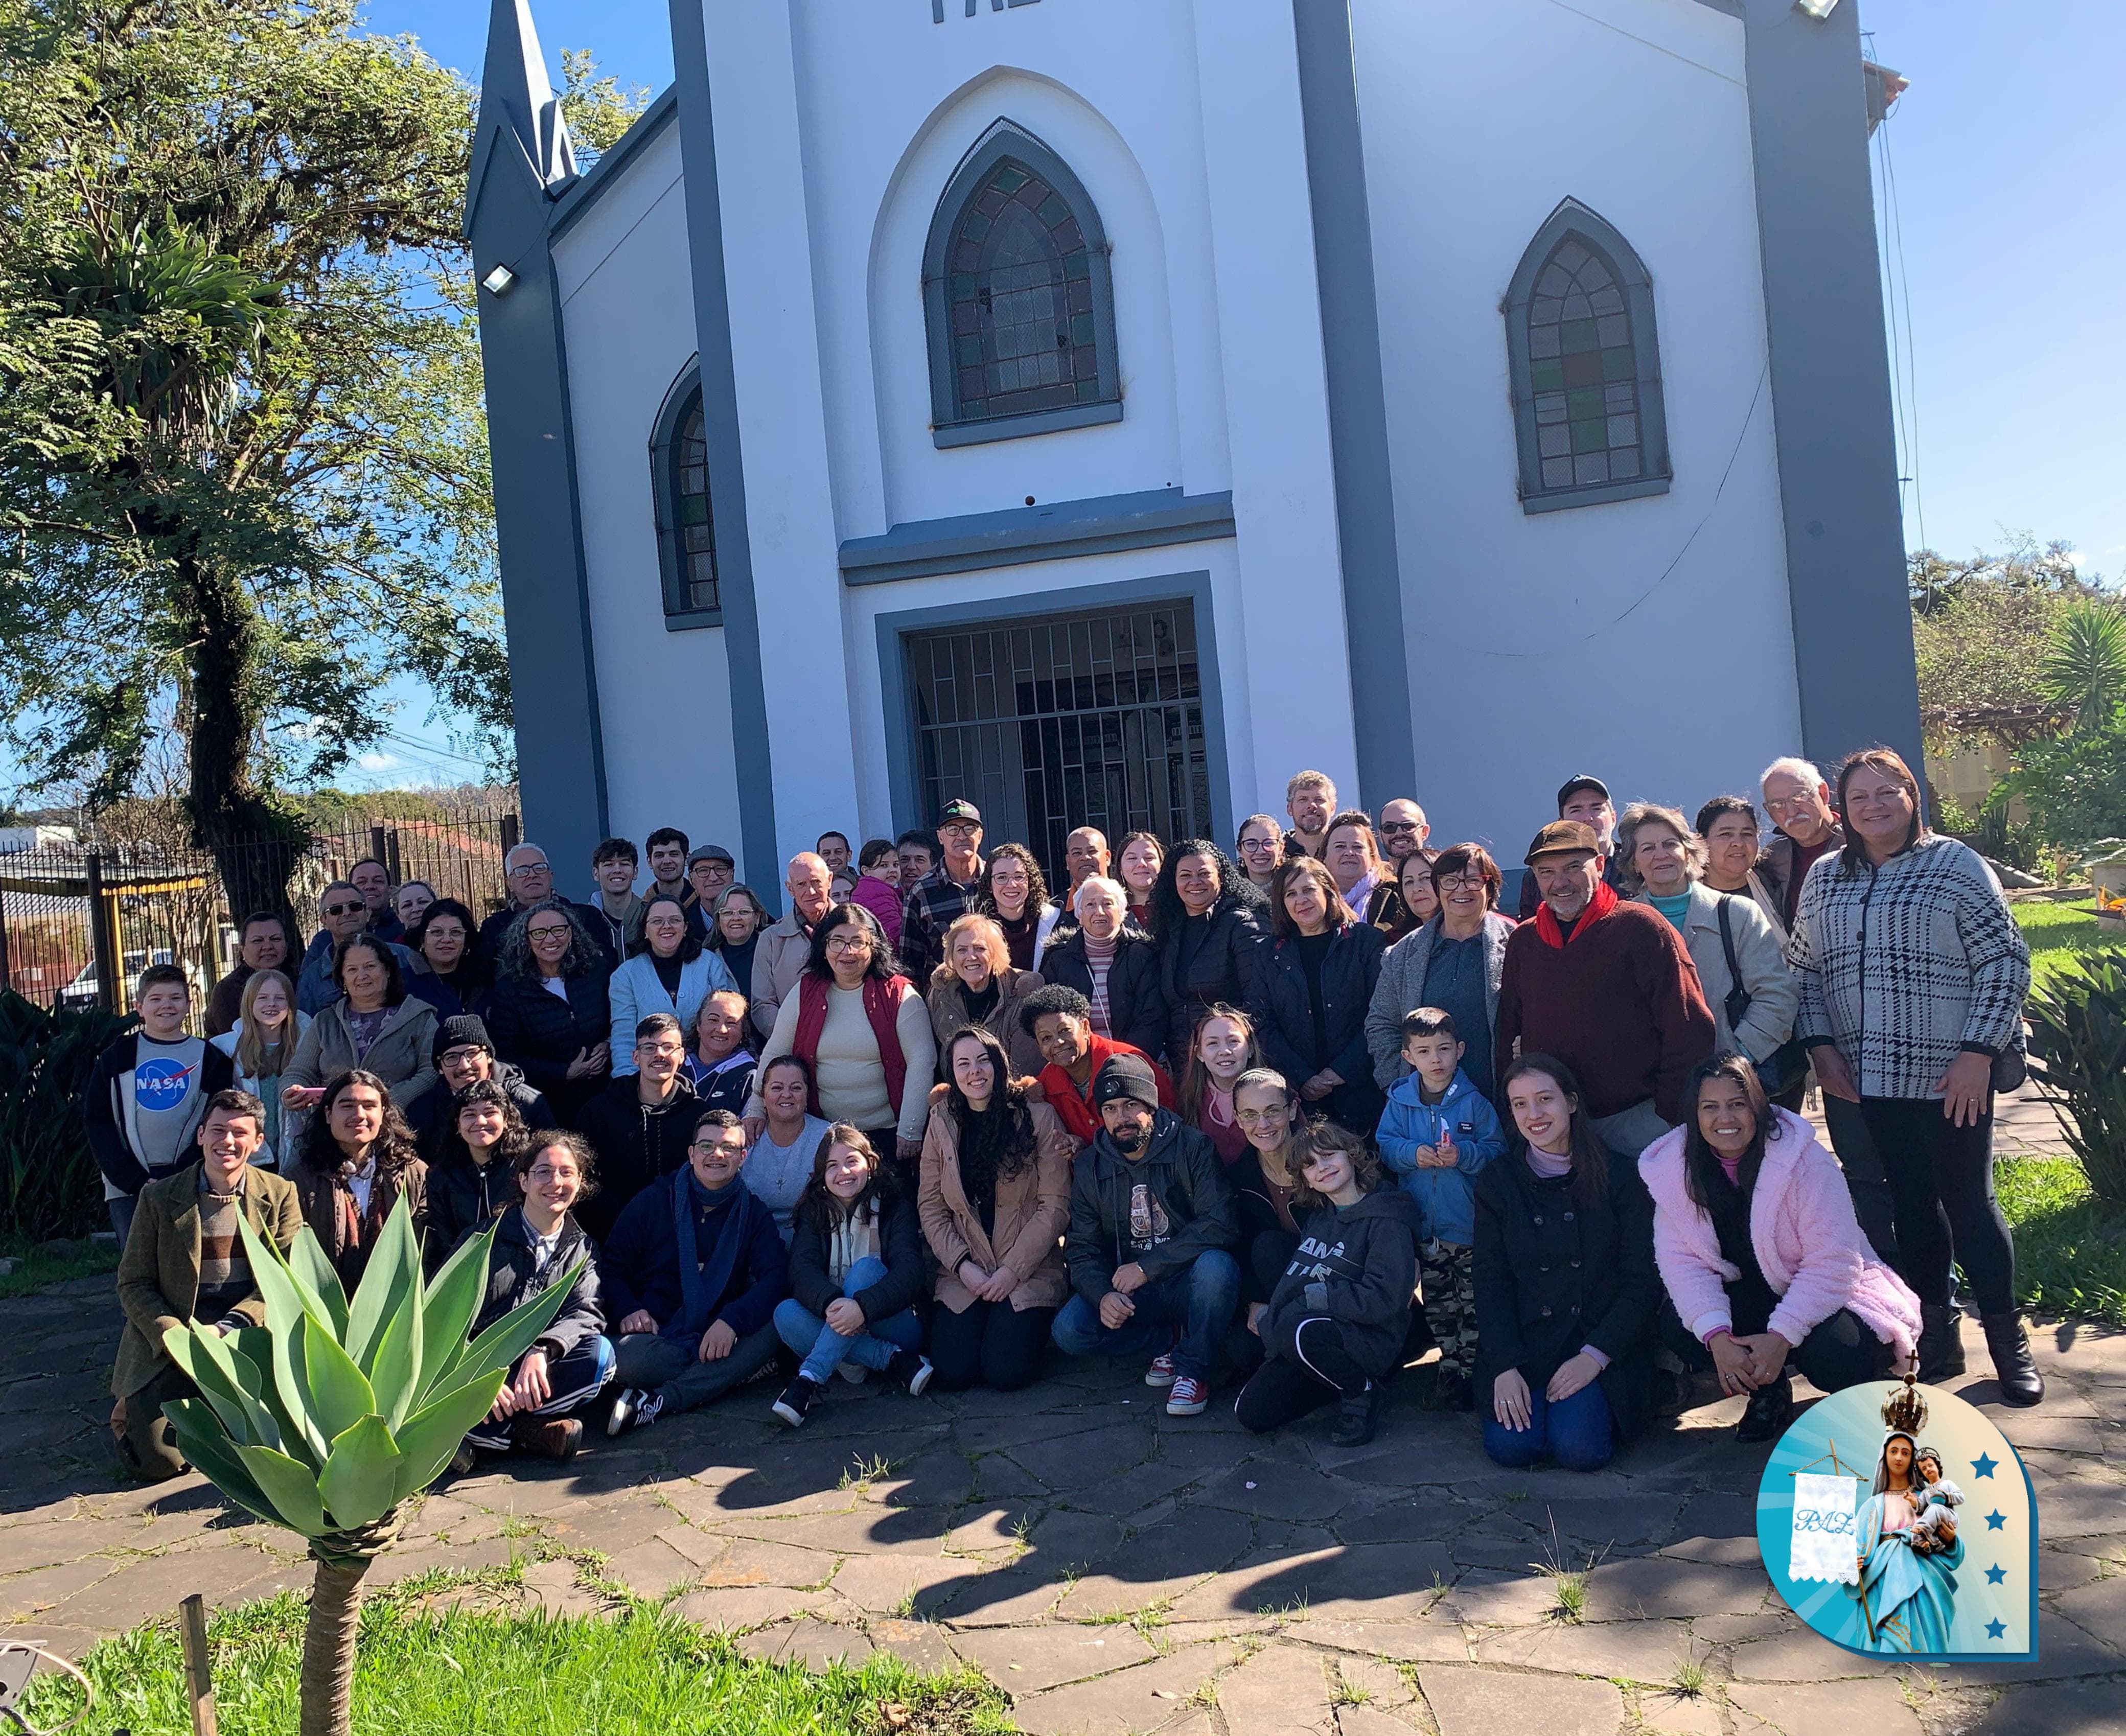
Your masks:
{"label": "sunlit grass patch in foreground around the agave's trunk", "polygon": [[[291,1592],[208,1628],[223,1736],[283,1736],[298,1721],[304,1600]],[[83,1736],[189,1736],[183,1653],[166,1626],[98,1645],[83,1670]],[[32,1723],[79,1708],[38,1681]],[[364,1609],[353,1728],[364,1736],[991,1736],[1012,1730],[978,1674],[921,1677],[876,1653],[863,1668],[755,1664],[721,1636],[636,1606],[619,1617],[444,1615],[385,1594]]]}

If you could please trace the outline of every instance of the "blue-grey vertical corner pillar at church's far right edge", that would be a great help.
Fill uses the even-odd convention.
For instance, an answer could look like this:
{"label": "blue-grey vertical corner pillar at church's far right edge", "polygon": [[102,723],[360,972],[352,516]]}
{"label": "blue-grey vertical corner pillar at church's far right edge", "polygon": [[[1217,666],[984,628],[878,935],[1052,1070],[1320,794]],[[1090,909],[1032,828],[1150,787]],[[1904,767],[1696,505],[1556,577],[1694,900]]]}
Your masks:
{"label": "blue-grey vertical corner pillar at church's far right edge", "polygon": [[1745,25],[1803,752],[1920,765],[1858,6],[1748,0]]}

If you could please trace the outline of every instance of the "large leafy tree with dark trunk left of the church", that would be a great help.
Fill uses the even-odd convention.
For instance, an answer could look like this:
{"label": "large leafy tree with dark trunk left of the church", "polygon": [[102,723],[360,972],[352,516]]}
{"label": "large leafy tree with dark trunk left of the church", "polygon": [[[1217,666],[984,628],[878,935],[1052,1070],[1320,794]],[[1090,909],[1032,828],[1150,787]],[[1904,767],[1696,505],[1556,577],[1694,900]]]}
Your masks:
{"label": "large leafy tree with dark trunk left of the church", "polygon": [[[276,793],[389,725],[391,674],[508,756],[474,91],[355,17],[0,0],[0,725],[98,807],[174,716],[234,909],[285,905]],[[602,136],[634,98],[591,70]]]}

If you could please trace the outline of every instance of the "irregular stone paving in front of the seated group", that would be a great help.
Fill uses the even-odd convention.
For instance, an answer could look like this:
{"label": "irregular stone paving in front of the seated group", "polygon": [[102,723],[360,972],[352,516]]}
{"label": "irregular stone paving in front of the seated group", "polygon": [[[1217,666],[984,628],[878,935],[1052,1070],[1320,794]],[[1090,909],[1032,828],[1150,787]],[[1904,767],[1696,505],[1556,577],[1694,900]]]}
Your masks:
{"label": "irregular stone paving in front of the seated group", "polygon": [[[115,1337],[108,1279],[0,1303],[0,1636],[70,1655],[196,1589],[308,1581],[289,1534],[200,1479],[119,1483]],[[1958,1383],[2039,1490],[2035,1666],[1873,1664],[1801,1628],[1758,1566],[1767,1449],[1733,1441],[1739,1400],[1575,1477],[1499,1470],[1469,1417],[1416,1407],[1422,1381],[1339,1451],[1327,1417],[1246,1436],[1229,1394],[1171,1419],[1106,1364],[1012,1396],[836,1381],[799,1434],[753,1388],[570,1466],[446,1483],[376,1579],[517,1566],[436,1596],[585,1613],[627,1592],[761,1657],[959,1662],[1037,1736],[2126,1732],[2126,1334],[2047,1324],[2037,1347],[2037,1411]],[[1577,1621],[1552,1568],[1588,1572]]]}

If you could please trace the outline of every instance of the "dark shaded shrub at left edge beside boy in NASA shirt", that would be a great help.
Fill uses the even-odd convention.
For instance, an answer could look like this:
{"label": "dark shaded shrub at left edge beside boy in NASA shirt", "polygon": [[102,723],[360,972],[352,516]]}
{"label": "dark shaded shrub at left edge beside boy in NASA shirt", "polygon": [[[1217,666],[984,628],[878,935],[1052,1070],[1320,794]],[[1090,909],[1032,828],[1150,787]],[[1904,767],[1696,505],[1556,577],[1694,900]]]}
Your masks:
{"label": "dark shaded shrub at left edge beside boy in NASA shirt", "polygon": [[81,1126],[81,1092],[132,1014],[102,1007],[45,1011],[0,990],[0,1230],[26,1241],[81,1237],[104,1226],[104,1188]]}

